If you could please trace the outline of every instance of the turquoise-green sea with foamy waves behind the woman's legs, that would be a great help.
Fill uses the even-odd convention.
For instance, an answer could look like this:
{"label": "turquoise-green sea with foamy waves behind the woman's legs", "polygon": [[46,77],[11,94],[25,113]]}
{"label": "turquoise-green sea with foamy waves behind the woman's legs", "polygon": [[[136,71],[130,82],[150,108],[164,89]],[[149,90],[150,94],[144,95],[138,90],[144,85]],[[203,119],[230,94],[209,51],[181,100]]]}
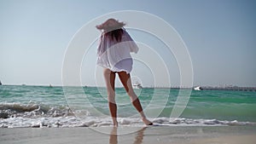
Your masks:
{"label": "turquoise-green sea with foamy waves behind the woman's legs", "polygon": [[[65,91],[65,93],[64,93]],[[255,125],[256,92],[192,90],[179,118],[170,118],[179,89],[135,89],[157,125]],[[116,88],[119,125],[141,126],[125,89]],[[112,125],[105,88],[0,86],[0,127],[95,127]]]}

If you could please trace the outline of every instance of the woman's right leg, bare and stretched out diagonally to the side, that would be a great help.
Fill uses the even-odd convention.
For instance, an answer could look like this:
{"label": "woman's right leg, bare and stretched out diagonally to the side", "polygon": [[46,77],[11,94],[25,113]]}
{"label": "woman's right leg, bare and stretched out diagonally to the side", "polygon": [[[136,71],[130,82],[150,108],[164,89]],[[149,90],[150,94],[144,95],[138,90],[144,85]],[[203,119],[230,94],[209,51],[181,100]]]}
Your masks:
{"label": "woman's right leg, bare and stretched out diagonally to the side", "polygon": [[120,81],[124,85],[127,94],[130,96],[133,106],[137,109],[137,112],[141,114],[144,124],[152,125],[152,123],[146,118],[143,112],[143,107],[141,105],[141,102],[137,98],[137,95],[135,94],[134,90],[132,89],[130,74],[127,74],[126,72],[118,72],[118,73],[119,73]]}

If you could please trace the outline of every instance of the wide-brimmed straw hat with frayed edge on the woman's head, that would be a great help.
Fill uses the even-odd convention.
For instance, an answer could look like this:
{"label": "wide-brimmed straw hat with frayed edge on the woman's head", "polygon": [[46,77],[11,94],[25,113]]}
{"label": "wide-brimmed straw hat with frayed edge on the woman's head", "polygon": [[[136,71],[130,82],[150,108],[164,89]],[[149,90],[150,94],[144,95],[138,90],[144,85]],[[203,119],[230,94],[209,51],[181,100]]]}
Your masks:
{"label": "wide-brimmed straw hat with frayed edge on the woman's head", "polygon": [[111,32],[113,30],[122,28],[125,26],[124,22],[119,22],[118,20],[108,19],[102,23],[102,25],[96,26],[98,30],[103,30],[103,32]]}

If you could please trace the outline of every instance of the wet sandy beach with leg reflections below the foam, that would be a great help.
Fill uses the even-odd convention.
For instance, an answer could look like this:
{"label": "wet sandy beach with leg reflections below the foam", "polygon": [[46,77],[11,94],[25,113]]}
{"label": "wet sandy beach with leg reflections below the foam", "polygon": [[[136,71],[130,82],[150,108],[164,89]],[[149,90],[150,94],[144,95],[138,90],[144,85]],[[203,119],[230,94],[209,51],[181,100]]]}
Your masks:
{"label": "wet sandy beach with leg reflections below the foam", "polygon": [[[134,130],[135,132],[127,134]],[[107,134],[108,133],[108,134]],[[125,134],[126,133],[126,134]],[[255,126],[153,126],[1,129],[1,144],[188,143],[254,144]]]}

